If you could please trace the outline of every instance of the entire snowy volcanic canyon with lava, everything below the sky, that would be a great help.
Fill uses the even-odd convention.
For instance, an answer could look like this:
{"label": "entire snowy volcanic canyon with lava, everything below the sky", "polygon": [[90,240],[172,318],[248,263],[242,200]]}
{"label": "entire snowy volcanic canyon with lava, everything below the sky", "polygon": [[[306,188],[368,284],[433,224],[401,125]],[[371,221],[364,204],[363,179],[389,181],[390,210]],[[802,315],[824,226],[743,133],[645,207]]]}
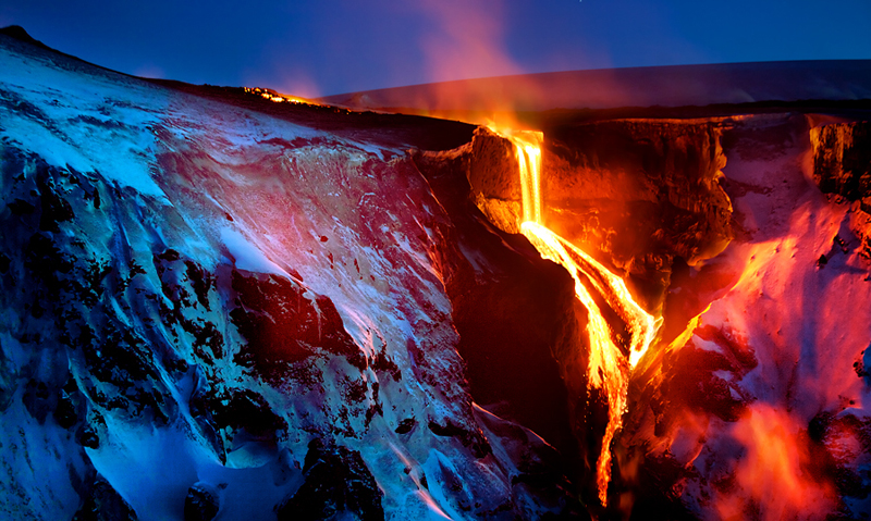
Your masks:
{"label": "entire snowy volcanic canyon with lava, everything below the sky", "polygon": [[811,65],[310,102],[3,29],[0,512],[867,516],[871,80]]}

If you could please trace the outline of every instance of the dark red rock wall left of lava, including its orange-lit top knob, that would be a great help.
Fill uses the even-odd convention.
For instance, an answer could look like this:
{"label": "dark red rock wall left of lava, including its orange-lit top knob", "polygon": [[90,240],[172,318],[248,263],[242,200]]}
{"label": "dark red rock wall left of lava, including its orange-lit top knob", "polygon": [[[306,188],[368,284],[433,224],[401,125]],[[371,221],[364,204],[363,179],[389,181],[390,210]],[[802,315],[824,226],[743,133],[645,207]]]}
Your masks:
{"label": "dark red rock wall left of lava, including its orange-lit top knob", "polygon": [[[481,127],[469,146],[450,154],[422,154],[416,161],[449,214],[475,215],[464,207],[477,206],[482,213],[478,221],[487,218],[499,230],[517,230],[517,160],[505,138]],[[466,221],[455,219],[463,222],[461,248],[501,249],[489,244],[492,234],[482,233],[487,223]],[[585,497],[596,501],[592,469],[601,452],[608,398],[588,388],[587,310],[563,268],[543,261],[523,236],[502,234],[501,241],[522,257],[479,257],[467,276],[483,283],[449,285],[473,395],[492,410],[533,426],[560,448]],[[530,270],[528,263],[544,265]]]}

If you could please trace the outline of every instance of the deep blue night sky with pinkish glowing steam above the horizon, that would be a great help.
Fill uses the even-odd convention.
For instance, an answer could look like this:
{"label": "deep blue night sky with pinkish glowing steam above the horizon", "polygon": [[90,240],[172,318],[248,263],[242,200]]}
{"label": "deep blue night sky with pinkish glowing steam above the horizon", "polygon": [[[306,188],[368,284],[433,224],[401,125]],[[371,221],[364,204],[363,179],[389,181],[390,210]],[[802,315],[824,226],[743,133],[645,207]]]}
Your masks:
{"label": "deep blue night sky with pinkish glowing steam above the horizon", "polygon": [[871,0],[0,0],[125,73],[314,97],[579,69],[871,59]]}

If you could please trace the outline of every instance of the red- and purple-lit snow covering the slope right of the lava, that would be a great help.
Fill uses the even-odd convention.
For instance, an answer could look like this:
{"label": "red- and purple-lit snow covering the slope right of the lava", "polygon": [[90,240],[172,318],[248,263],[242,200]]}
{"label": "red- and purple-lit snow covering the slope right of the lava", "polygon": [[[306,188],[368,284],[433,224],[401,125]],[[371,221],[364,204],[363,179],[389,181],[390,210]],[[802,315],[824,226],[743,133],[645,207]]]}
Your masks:
{"label": "red- and purple-lit snow covering the slope right of the lava", "polygon": [[[714,298],[698,327],[727,333],[757,364],[743,377],[732,371],[712,373],[729,383],[733,400],[747,402],[749,397],[749,405],[736,421],[703,429],[706,448],[694,463],[701,477],[691,479],[684,492],[702,519],[753,501],[760,516],[770,519],[823,517],[833,508],[833,485],[813,482],[799,469],[807,443],[799,430],[823,411],[868,418],[860,405],[869,402],[869,387],[852,364],[871,338],[871,286],[864,281],[869,261],[858,248],[846,253],[833,249],[836,235],[850,233],[850,207],[826,199],[808,182],[810,144],[800,121],[789,117],[741,123],[750,135],[778,125],[781,133],[790,128],[783,142],[766,150],[747,139],[725,150],[723,173],[743,187],[732,203],[745,235],[713,261],[740,276]],[[856,248],[858,240],[851,244]],[[818,266],[820,256],[831,251],[830,261]],[[698,334],[688,345],[724,353]],[[744,448],[736,451],[736,444]],[[776,459],[778,451],[786,454],[783,460]],[[775,466],[770,483],[752,470]],[[710,486],[727,474],[736,476],[733,488]],[[774,499],[768,500],[765,491]],[[801,500],[784,504],[777,491]],[[710,503],[700,499],[706,496]]]}

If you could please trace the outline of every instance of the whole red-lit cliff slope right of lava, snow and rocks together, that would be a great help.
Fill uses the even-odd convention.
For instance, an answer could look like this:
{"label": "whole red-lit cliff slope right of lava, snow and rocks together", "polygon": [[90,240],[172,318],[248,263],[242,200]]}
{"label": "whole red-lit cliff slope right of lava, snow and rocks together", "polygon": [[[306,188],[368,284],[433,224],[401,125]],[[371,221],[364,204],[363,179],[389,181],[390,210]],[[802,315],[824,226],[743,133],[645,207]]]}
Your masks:
{"label": "whole red-lit cliff slope right of lava, snow and rocks together", "polygon": [[838,448],[867,432],[857,368],[871,294],[856,211],[809,183],[803,116],[749,116],[721,141],[734,238],[672,273],[663,344],[630,392],[627,493],[649,508],[642,491],[671,482],[704,519],[860,516],[868,451]]}

